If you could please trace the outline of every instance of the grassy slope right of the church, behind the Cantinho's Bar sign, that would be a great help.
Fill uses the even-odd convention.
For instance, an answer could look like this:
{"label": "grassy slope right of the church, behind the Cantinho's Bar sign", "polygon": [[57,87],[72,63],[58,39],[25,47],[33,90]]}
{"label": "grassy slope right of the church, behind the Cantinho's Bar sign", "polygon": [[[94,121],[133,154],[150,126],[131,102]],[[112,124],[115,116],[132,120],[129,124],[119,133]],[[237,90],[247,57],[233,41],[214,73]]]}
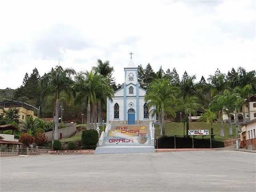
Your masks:
{"label": "grassy slope right of the church, behind the Cantinho's Bar sign", "polygon": [[[183,123],[166,123],[164,124],[164,130],[165,130],[165,135],[183,135]],[[220,123],[213,123],[213,133],[214,134],[220,134]],[[159,126],[156,125],[156,136],[160,135],[160,129]],[[215,140],[225,140],[228,138],[234,138],[236,137],[236,127],[233,125],[233,135],[229,136],[228,133],[228,124],[224,123],[224,135],[225,137],[220,137],[220,135],[214,136]],[[189,123],[189,129],[208,129],[209,133],[211,132],[211,124],[206,123],[206,122],[190,122]],[[185,134],[186,134],[186,124],[185,124]]]}

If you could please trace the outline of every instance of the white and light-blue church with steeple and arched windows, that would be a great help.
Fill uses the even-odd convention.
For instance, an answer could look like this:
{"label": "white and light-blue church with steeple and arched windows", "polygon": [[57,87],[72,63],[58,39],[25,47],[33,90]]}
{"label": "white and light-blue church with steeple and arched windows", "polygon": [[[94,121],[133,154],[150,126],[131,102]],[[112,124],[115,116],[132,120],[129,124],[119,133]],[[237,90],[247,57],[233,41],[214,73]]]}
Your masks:
{"label": "white and light-blue church with steeple and arched windows", "polygon": [[107,123],[149,124],[156,120],[144,100],[146,90],[139,87],[138,67],[132,61],[124,68],[124,86],[115,92],[113,101],[107,98]]}

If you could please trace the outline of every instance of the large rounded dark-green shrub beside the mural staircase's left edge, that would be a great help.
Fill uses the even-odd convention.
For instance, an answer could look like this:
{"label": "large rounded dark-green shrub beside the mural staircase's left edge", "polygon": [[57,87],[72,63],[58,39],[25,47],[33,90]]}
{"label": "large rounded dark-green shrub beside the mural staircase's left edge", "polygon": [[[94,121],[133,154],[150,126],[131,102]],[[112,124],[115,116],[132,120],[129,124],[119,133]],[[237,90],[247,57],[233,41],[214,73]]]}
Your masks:
{"label": "large rounded dark-green shrub beside the mural staircase's left edge", "polygon": [[96,130],[84,130],[82,132],[82,145],[84,149],[95,149],[99,140],[99,133]]}

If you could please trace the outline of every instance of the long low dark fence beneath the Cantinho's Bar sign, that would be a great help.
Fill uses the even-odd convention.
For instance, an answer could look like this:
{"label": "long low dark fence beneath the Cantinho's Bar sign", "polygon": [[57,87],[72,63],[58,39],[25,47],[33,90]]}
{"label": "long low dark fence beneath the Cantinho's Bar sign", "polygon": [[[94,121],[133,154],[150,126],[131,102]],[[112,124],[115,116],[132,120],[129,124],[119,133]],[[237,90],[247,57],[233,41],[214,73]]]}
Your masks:
{"label": "long low dark fence beneath the Cantinho's Bar sign", "polygon": [[215,135],[157,135],[155,148],[218,148],[222,141],[214,140]]}

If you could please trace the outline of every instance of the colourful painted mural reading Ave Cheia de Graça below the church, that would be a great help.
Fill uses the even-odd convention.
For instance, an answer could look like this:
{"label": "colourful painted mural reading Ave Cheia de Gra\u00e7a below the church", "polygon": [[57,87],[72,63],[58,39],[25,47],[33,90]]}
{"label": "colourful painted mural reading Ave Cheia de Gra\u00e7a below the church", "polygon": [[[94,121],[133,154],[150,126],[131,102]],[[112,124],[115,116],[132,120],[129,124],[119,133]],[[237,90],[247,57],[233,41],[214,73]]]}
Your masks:
{"label": "colourful painted mural reading Ave Cheia de Gra\u00e7a below the church", "polygon": [[112,125],[104,140],[106,145],[148,145],[147,125]]}

